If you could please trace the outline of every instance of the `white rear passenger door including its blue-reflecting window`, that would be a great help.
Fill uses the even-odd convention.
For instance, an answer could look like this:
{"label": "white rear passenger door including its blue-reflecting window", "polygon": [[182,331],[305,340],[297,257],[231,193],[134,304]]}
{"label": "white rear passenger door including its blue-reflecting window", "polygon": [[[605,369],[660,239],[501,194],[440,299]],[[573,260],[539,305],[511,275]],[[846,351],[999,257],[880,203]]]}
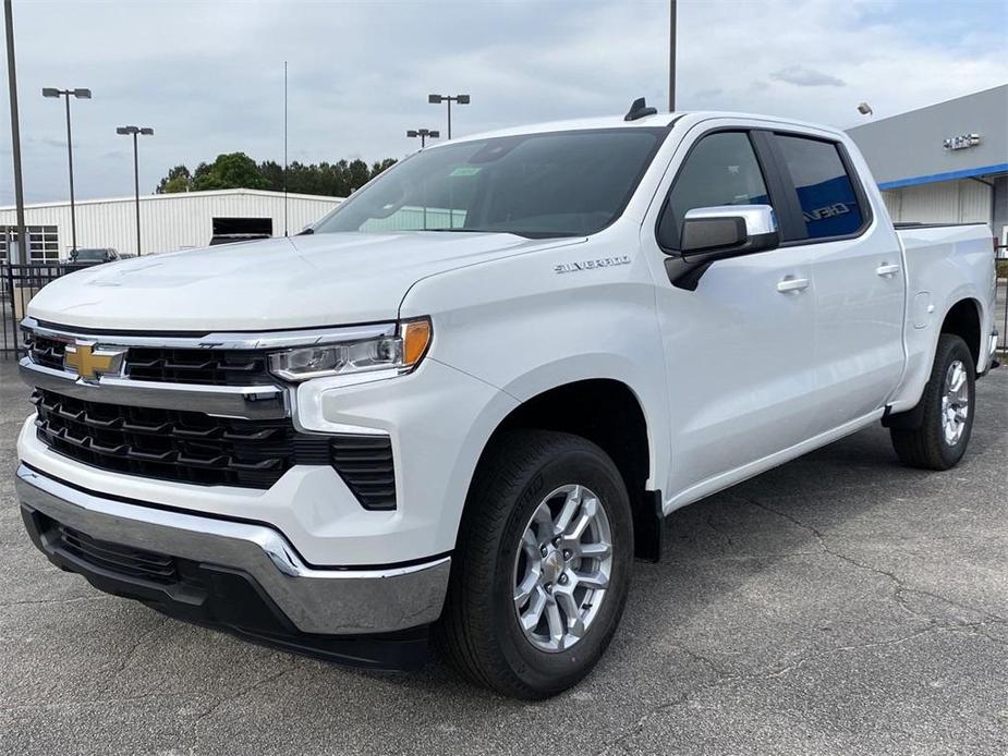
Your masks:
{"label": "white rear passenger door including its blue-reflecting window", "polygon": [[825,432],[884,406],[899,382],[901,252],[889,224],[874,222],[841,143],[781,132],[770,139],[805,236],[792,243],[812,263],[815,422]]}

